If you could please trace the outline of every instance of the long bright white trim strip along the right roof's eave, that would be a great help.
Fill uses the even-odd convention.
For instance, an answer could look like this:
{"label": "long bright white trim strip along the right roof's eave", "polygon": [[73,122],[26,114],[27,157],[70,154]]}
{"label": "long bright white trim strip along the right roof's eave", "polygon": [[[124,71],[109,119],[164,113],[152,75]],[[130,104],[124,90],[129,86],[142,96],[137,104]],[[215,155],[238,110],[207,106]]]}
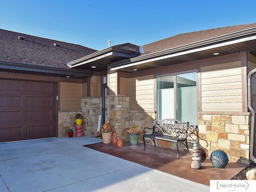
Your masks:
{"label": "long bright white trim strip along the right roof's eave", "polygon": [[[193,47],[189,47],[189,48],[184,49],[183,52],[178,52],[178,53],[170,52],[170,54],[168,54],[166,56],[160,56],[160,57],[157,57],[157,58],[152,58],[152,59],[148,59],[148,60],[143,60],[143,61],[138,61],[138,62],[126,64],[126,65],[123,65],[123,66],[114,67],[114,68],[111,68],[110,71],[130,67],[130,66],[135,66],[135,65],[139,65],[139,64],[143,64],[143,63],[147,63],[147,62],[152,62],[152,61],[162,60],[162,59],[166,59],[166,58],[172,58],[172,57],[176,57],[176,56],[180,56],[180,55],[185,55],[185,54],[189,54],[189,53],[208,50],[208,49],[212,49],[212,48],[217,48],[217,47],[221,47],[221,46],[227,46],[227,45],[236,44],[236,43],[240,43],[240,42],[255,40],[255,39],[256,39],[256,36],[250,36],[250,37],[246,37],[246,38],[241,38],[241,39],[237,39],[237,40],[232,40],[232,41],[228,41],[228,42],[223,42],[223,43],[219,43],[219,44],[205,46],[205,47],[202,47],[202,48],[196,48],[198,46],[195,46],[194,49],[186,51],[186,49],[193,48]],[[212,43],[214,43],[214,42],[212,42]],[[205,44],[201,44],[200,46],[204,46],[204,45]],[[180,49],[178,51],[182,51],[182,49]],[[174,51],[174,52],[177,52],[177,51]],[[139,58],[140,57],[138,57],[138,59]]]}

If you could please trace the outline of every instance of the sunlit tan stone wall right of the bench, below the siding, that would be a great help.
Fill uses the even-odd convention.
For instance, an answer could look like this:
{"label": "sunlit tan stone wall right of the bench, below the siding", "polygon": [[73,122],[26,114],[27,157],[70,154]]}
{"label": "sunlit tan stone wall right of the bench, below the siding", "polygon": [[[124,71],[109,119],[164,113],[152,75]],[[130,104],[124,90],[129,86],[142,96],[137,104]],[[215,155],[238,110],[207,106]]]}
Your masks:
{"label": "sunlit tan stone wall right of the bench, below the siding", "polygon": [[208,150],[208,155],[220,149],[233,162],[250,163],[250,113],[199,114],[200,145]]}

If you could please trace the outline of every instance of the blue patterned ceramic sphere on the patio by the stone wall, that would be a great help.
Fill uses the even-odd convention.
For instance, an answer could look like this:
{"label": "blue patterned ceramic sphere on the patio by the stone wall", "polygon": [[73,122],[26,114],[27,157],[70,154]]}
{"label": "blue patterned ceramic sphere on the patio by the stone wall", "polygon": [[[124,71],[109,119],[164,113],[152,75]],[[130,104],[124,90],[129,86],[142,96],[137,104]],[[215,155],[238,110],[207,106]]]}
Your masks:
{"label": "blue patterned ceramic sphere on the patio by the stone wall", "polygon": [[212,165],[216,168],[224,168],[228,164],[228,155],[220,149],[212,152],[210,158]]}

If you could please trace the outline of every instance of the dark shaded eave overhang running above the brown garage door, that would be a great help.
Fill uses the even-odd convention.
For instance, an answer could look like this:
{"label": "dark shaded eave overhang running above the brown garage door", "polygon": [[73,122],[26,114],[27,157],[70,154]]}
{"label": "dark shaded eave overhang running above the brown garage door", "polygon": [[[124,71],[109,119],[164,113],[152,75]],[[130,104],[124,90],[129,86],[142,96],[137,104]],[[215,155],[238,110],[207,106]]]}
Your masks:
{"label": "dark shaded eave overhang running above the brown garage door", "polygon": [[88,70],[75,70],[65,68],[53,68],[48,66],[35,66],[30,64],[20,64],[13,62],[2,62],[0,61],[1,72],[13,72],[22,74],[33,74],[42,76],[53,76],[53,77],[67,77],[84,79],[92,77],[94,72]]}

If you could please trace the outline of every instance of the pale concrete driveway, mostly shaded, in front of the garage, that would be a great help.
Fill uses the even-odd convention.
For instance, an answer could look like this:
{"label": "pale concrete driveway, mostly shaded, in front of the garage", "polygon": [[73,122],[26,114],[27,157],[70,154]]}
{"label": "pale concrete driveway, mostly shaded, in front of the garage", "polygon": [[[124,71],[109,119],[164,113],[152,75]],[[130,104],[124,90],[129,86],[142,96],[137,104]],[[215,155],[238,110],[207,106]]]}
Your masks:
{"label": "pale concrete driveway, mostly shaded, in front of the garage", "polygon": [[0,143],[0,192],[210,191],[82,146],[96,142],[102,140],[84,136]]}

